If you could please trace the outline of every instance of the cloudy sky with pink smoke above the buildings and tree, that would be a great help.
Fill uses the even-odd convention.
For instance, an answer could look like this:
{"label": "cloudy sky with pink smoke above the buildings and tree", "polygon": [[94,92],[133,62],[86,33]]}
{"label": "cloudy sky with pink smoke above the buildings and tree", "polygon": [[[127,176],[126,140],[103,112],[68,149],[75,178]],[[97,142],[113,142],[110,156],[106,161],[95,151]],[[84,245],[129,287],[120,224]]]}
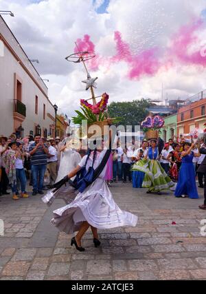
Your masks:
{"label": "cloudy sky with pink smoke above the buildings and tree", "polygon": [[95,52],[95,95],[112,101],[188,98],[206,89],[206,0],[0,0],[0,10],[27,56],[49,79],[49,99],[71,117],[91,97],[82,63]]}

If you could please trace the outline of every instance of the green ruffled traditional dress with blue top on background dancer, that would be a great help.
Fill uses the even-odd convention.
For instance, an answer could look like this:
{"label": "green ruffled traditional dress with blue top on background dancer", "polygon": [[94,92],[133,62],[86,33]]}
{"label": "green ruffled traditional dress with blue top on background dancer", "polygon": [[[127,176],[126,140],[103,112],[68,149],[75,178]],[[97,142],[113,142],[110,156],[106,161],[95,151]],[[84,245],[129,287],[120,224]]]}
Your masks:
{"label": "green ruffled traditional dress with blue top on background dancer", "polygon": [[[159,160],[158,148],[155,148],[153,153],[152,147],[148,149],[148,167],[145,165],[145,176],[142,183],[143,188],[149,188],[150,192],[157,192],[165,189],[170,189],[174,183],[161,167]],[[139,169],[142,171],[142,167]]]}

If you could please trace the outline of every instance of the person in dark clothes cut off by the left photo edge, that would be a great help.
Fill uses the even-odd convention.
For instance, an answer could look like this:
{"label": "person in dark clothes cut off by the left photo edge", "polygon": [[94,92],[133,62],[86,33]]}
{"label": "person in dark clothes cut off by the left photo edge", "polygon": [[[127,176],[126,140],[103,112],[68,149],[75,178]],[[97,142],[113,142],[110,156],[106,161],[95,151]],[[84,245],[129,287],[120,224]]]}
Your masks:
{"label": "person in dark clothes cut off by the left photo edge", "polygon": [[8,138],[1,136],[0,138],[0,169],[1,169],[1,180],[0,180],[0,195],[10,195],[7,188],[9,184],[8,176],[5,172],[5,162],[3,160],[3,154],[8,150]]}

